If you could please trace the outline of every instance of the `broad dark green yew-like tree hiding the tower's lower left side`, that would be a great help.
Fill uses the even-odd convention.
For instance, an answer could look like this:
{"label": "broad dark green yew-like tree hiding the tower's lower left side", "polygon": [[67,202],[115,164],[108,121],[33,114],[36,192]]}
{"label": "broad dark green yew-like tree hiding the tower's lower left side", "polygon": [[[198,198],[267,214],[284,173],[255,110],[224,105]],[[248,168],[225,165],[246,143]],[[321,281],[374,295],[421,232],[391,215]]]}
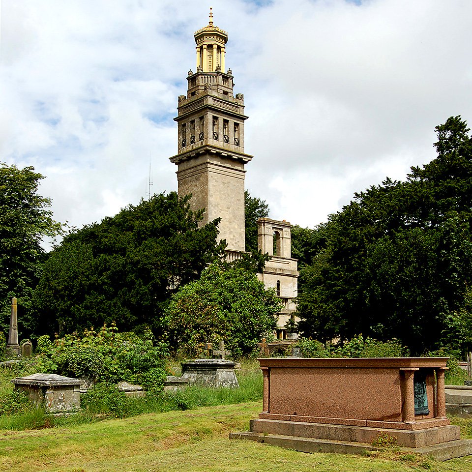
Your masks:
{"label": "broad dark green yew-like tree hiding the tower's lower left side", "polygon": [[[170,296],[218,259],[218,221],[198,227],[189,196],[154,195],[66,236],[34,292],[37,331],[70,333],[116,321],[160,331]],[[140,328],[141,326],[141,328]]]}

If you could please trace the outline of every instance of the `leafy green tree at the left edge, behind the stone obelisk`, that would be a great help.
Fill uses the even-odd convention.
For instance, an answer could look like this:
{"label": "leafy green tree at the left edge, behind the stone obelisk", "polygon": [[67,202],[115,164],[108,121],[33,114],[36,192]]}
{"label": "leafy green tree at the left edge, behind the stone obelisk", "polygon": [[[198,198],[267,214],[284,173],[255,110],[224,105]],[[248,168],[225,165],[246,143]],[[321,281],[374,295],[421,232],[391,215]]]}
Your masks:
{"label": "leafy green tree at the left edge, behind the stone obelisk", "polygon": [[42,178],[33,167],[0,162],[0,313],[8,329],[11,298],[18,298],[20,336],[31,328],[31,293],[45,255],[41,241],[61,229],[52,218],[51,200],[38,194]]}

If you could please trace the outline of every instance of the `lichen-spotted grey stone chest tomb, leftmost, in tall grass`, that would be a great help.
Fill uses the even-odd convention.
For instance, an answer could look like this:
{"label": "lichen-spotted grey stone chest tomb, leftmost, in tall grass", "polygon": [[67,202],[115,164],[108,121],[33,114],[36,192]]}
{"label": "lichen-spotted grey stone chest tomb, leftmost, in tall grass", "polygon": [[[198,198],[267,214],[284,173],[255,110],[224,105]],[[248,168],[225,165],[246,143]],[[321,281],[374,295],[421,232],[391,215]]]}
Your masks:
{"label": "lichen-spotted grey stone chest tomb, leftmost, in tall grass", "polygon": [[74,412],[80,409],[80,380],[57,374],[32,374],[11,381],[24,390],[30,400],[48,413]]}

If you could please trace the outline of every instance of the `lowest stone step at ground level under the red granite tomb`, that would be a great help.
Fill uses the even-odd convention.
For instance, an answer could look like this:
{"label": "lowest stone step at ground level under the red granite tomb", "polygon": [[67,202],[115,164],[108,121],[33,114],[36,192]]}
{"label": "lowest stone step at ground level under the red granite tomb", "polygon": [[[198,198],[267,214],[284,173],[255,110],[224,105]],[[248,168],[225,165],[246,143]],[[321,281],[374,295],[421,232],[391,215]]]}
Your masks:
{"label": "lowest stone step at ground level under the red granite tomb", "polygon": [[[294,449],[300,452],[331,452],[338,454],[363,454],[365,451],[383,450],[382,447],[374,447],[372,444],[362,442],[342,442],[328,439],[300,438],[295,436],[284,436],[276,434],[253,433],[244,431],[242,433],[230,433],[230,439],[242,439],[249,441],[264,442],[273,446]],[[405,452],[416,452],[431,457],[437,461],[447,461],[455,457],[463,457],[472,454],[472,440],[462,439],[451,442],[443,442],[431,446],[411,448],[399,447]]]}

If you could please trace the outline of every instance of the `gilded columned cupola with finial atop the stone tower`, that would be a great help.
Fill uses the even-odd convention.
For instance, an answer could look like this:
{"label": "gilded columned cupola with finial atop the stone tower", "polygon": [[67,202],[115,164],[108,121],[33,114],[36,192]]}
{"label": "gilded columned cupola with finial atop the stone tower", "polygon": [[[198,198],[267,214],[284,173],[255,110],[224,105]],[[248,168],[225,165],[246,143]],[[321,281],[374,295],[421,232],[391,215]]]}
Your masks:
{"label": "gilded columned cupola with finial atop the stone tower", "polygon": [[209,22],[204,28],[195,31],[197,43],[197,72],[225,72],[225,44],[228,33],[213,25],[210,8]]}

